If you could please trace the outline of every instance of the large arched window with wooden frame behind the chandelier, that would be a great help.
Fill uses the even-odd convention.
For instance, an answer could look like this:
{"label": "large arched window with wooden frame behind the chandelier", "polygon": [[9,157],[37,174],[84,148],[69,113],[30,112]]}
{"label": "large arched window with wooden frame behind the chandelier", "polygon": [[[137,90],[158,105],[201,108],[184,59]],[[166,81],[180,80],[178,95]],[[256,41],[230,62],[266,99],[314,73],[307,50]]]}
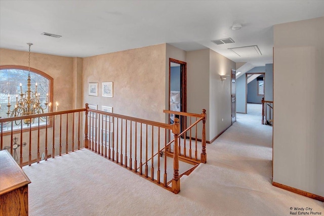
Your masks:
{"label": "large arched window with wooden frame behind the chandelier", "polygon": [[[0,116],[2,118],[13,117],[11,113],[8,114],[7,105],[10,103],[10,111],[12,111],[20,99],[21,92],[25,93],[27,91],[28,72],[28,67],[25,66],[0,66]],[[37,83],[40,105],[44,108],[44,112],[49,112],[49,106],[46,103],[53,103],[53,78],[42,71],[30,68],[30,82],[30,88],[33,92],[35,92]],[[43,122],[41,124],[45,123]],[[6,131],[6,128],[3,129]]]}

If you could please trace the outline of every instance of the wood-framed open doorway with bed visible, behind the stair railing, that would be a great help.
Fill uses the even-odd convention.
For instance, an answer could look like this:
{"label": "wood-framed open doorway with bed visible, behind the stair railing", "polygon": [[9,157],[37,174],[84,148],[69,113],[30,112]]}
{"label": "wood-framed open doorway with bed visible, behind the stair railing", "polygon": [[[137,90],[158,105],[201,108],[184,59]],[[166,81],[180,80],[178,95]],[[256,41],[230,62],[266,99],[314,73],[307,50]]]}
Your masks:
{"label": "wood-framed open doorway with bed visible, behind the stair railing", "polygon": [[[169,59],[169,110],[187,111],[187,63],[176,59]],[[174,116],[170,114],[169,122],[172,124]],[[184,119],[180,118],[181,132],[184,129]]]}

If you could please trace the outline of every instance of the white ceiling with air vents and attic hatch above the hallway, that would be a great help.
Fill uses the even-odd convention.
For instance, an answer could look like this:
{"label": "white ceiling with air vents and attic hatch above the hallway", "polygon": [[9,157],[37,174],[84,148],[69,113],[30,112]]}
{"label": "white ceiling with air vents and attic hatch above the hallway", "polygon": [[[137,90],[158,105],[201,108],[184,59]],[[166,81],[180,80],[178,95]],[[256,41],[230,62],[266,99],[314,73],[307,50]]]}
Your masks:
{"label": "white ceiling with air vents and attic hatch above the hallway", "polygon": [[[272,62],[273,25],[324,16],[324,1],[0,1],[0,47],[88,57],[169,43],[235,62]],[[234,22],[242,28],[233,31]],[[62,35],[54,38],[43,32]],[[211,40],[231,37],[235,43]],[[228,48],[257,45],[262,56]],[[1,58],[1,57],[0,57]]]}

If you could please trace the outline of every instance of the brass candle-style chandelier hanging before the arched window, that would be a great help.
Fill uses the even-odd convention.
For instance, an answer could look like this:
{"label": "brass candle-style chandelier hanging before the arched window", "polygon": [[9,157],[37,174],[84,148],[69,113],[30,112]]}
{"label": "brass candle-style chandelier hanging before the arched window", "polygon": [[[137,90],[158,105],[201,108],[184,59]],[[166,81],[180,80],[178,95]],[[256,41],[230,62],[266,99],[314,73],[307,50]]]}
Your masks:
{"label": "brass candle-style chandelier hanging before the arched window", "polygon": [[[40,100],[41,94],[37,92],[37,82],[35,83],[35,91],[31,90],[31,82],[30,82],[30,46],[31,43],[27,43],[29,46],[28,53],[28,78],[27,78],[27,91],[23,92],[22,83],[20,83],[20,94],[16,94],[16,102],[14,104],[13,110],[11,110],[12,104],[10,103],[10,95],[8,94],[8,111],[6,112],[8,117],[17,117],[17,116],[27,116],[32,114],[41,114],[44,113],[44,110],[48,108],[48,112],[51,110],[51,103],[49,103],[49,94],[46,94],[46,101],[42,104]],[[56,102],[55,111],[57,111],[58,103]],[[1,107],[0,107],[1,109]],[[52,120],[48,117],[40,117],[41,120]],[[23,122],[27,125],[33,122],[33,119],[27,118],[24,119]]]}

